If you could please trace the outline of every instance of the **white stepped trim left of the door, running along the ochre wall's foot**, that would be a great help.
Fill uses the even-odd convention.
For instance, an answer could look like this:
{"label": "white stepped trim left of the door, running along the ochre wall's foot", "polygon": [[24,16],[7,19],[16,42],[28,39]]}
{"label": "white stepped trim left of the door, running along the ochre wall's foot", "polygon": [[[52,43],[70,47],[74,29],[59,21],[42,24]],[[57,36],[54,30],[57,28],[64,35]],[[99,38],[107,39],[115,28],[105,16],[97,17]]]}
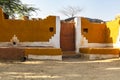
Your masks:
{"label": "white stepped trim left of the door, running along the ochre wall's foot", "polygon": [[[19,38],[17,38],[17,36],[15,36],[17,38],[17,40],[19,41],[16,45],[13,45],[12,40],[13,37],[11,37],[10,42],[0,42],[0,47],[11,47],[11,46],[20,46],[20,47],[26,47],[26,46],[30,46],[30,47],[47,47],[47,46],[51,46],[54,48],[60,48],[60,18],[58,16],[56,16],[56,25],[55,25],[55,29],[56,32],[55,34],[51,37],[51,39],[49,39],[49,42],[20,42]],[[52,27],[52,26],[51,26]],[[39,36],[38,36],[39,37]],[[14,40],[13,40],[14,41]]]}

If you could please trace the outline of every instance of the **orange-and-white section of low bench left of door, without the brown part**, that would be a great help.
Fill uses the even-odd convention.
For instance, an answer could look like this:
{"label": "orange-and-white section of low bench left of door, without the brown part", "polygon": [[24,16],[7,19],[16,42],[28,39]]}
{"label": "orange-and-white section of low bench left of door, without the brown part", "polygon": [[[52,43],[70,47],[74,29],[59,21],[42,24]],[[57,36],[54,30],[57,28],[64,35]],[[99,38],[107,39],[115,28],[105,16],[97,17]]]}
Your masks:
{"label": "orange-and-white section of low bench left of door, without the brown part", "polygon": [[62,60],[60,48],[26,48],[25,55],[28,59]]}

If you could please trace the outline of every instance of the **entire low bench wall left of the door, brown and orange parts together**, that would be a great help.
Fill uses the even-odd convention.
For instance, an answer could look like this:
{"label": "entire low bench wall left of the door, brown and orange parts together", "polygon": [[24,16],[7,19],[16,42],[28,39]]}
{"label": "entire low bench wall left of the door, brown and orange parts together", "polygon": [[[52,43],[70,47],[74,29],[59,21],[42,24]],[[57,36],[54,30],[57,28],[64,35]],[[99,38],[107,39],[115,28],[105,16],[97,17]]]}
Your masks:
{"label": "entire low bench wall left of the door, brown and orange parts together", "polygon": [[0,60],[51,59],[62,60],[60,48],[50,47],[1,47]]}

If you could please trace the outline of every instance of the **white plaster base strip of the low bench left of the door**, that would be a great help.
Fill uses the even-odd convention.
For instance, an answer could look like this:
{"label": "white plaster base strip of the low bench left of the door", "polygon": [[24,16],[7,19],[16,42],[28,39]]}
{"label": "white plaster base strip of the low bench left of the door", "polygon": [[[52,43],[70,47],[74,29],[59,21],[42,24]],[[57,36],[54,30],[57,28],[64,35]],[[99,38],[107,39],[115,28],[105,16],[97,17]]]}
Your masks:
{"label": "white plaster base strip of the low bench left of the door", "polygon": [[39,59],[39,60],[62,60],[62,55],[48,56],[48,55],[28,55],[28,59]]}

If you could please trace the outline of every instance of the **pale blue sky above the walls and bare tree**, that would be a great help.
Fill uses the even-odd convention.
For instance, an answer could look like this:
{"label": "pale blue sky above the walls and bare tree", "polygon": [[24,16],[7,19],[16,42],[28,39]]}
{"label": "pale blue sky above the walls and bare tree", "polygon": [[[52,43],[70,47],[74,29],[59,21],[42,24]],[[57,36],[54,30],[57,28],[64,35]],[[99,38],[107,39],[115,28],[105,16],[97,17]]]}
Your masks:
{"label": "pale blue sky above the walls and bare tree", "polygon": [[113,20],[120,13],[120,0],[21,0],[25,4],[32,4],[40,9],[33,17],[45,18],[48,15],[67,18],[60,13],[64,7],[78,6],[82,12],[78,16]]}

